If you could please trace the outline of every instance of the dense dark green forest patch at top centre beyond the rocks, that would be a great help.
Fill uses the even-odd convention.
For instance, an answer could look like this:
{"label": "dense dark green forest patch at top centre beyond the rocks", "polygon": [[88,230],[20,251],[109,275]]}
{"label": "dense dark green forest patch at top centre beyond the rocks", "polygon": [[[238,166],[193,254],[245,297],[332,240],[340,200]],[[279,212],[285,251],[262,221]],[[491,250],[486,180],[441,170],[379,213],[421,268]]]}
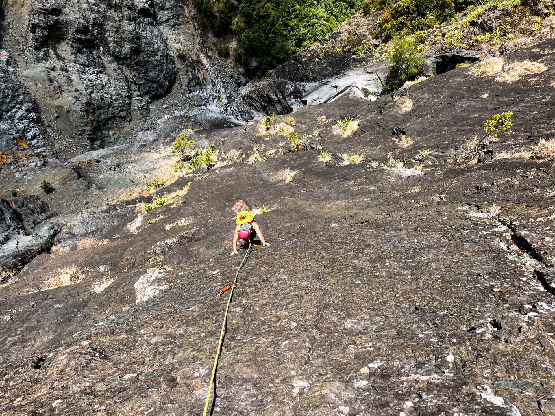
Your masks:
{"label": "dense dark green forest patch at top centre beyond the rocks", "polygon": [[[363,0],[196,0],[201,27],[238,35],[236,62],[250,76],[265,75],[299,50],[320,42],[360,10]],[[251,68],[250,58],[256,58]]]}

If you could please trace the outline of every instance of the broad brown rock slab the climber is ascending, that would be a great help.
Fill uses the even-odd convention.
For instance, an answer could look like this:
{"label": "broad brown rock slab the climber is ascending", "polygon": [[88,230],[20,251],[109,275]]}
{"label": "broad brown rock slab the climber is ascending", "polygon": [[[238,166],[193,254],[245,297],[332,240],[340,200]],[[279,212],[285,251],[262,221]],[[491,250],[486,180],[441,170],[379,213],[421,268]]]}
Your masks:
{"label": "broad brown rock slab the climber is ascending", "polygon": [[173,118],[65,163],[3,159],[23,196],[2,235],[61,229],[2,277],[3,414],[201,414],[245,205],[270,246],[239,273],[212,414],[555,414],[554,50],[302,106],[275,120],[299,142],[189,131],[211,170],[171,171]]}

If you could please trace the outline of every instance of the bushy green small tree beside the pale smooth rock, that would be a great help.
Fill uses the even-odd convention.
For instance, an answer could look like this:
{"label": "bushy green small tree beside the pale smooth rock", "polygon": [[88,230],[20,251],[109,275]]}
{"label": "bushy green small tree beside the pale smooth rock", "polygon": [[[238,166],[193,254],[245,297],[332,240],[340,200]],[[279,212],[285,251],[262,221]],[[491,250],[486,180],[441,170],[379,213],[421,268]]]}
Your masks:
{"label": "bushy green small tree beside the pale smooth rock", "polygon": [[387,89],[401,88],[405,82],[415,79],[426,63],[426,57],[418,44],[408,38],[393,39],[393,48],[387,67]]}

